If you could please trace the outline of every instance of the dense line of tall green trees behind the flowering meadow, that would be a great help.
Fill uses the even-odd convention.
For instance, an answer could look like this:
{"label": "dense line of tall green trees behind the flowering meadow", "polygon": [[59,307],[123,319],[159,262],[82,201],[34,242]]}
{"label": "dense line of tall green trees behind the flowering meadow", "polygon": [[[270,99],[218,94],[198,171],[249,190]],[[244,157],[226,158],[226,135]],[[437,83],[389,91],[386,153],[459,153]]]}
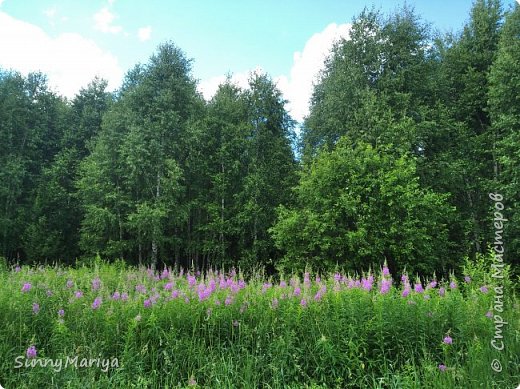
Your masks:
{"label": "dense line of tall green trees behind the flowering meadow", "polygon": [[[173,43],[120,90],[67,101],[0,72],[0,255],[72,263],[445,273],[495,238],[520,254],[520,8],[475,2],[458,34],[365,10],[296,123],[252,74],[204,101]],[[295,157],[298,155],[298,159]]]}

